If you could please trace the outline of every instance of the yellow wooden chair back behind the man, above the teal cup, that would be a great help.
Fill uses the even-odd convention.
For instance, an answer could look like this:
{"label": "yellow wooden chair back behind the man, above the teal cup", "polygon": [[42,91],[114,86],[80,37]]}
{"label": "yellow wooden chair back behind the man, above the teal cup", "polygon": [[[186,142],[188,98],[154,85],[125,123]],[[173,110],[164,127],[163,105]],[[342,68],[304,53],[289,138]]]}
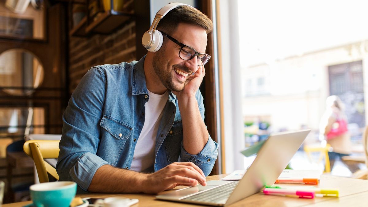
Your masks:
{"label": "yellow wooden chair back behind the man, above the teal cup", "polygon": [[29,140],[23,145],[23,151],[33,159],[40,183],[49,182],[50,173],[54,178],[59,180],[56,169],[47,163],[44,159],[59,157],[59,141],[60,140]]}

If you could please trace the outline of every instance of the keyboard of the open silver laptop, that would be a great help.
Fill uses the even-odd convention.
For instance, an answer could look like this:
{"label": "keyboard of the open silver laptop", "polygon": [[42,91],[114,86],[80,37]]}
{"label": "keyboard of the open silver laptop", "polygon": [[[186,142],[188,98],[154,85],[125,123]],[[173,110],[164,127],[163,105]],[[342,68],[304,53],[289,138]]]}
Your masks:
{"label": "keyboard of the open silver laptop", "polygon": [[183,200],[201,201],[208,203],[225,203],[235,187],[238,185],[238,182],[239,181],[232,181],[230,183],[226,183],[225,185],[206,190],[205,192],[189,196]]}

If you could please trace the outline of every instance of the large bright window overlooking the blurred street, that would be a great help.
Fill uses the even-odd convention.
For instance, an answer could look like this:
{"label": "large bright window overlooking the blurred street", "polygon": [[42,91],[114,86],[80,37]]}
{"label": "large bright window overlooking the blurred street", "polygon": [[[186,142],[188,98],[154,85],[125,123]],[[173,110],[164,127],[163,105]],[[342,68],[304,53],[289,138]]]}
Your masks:
{"label": "large bright window overlooking the blurred street", "polygon": [[318,141],[326,98],[336,94],[350,123],[366,123],[365,8],[357,0],[219,1],[222,87],[233,106],[224,107],[226,172],[243,167],[245,120],[268,122],[269,133],[309,128]]}

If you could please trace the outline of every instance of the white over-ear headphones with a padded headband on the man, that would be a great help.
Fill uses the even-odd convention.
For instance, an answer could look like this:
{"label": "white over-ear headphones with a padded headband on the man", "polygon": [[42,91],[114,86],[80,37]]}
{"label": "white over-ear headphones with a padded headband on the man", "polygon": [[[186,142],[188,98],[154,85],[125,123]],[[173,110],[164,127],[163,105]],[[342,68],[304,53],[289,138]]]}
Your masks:
{"label": "white over-ear headphones with a padded headband on the man", "polygon": [[[142,45],[149,51],[149,52],[157,52],[161,46],[163,41],[163,36],[160,31],[156,30],[159,21],[171,10],[176,7],[180,6],[190,6],[188,4],[182,3],[171,3],[167,4],[166,6],[162,7],[157,13],[155,18],[153,19],[152,25],[148,31],[143,34],[142,37]],[[192,7],[192,6],[190,6]]]}

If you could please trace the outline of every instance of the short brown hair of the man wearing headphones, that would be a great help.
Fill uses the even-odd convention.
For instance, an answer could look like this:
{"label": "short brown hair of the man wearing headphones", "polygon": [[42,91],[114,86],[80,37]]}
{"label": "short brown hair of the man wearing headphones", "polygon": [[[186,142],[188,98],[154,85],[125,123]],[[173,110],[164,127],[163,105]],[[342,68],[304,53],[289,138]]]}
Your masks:
{"label": "short brown hair of the man wearing headphones", "polygon": [[201,11],[190,6],[180,6],[169,11],[157,25],[158,30],[167,34],[173,34],[178,28],[179,23],[197,25],[206,30],[206,33],[212,31],[212,21]]}

